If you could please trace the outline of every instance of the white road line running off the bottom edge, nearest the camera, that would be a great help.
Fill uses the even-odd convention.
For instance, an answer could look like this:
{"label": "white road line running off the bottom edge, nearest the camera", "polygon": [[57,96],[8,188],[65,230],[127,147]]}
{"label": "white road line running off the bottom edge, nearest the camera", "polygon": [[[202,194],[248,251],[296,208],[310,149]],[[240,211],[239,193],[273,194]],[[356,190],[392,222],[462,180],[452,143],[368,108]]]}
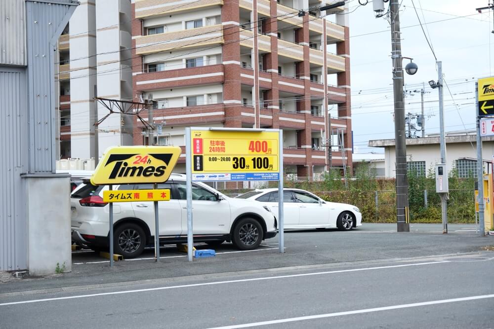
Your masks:
{"label": "white road line running off the bottom edge, nearest the camera", "polygon": [[338,316],[342,316],[342,315],[353,315],[353,314],[380,312],[380,311],[387,311],[387,310],[396,310],[399,308],[409,308],[409,307],[428,306],[428,305],[436,305],[436,304],[455,303],[455,302],[459,302],[459,301],[468,301],[468,300],[485,299],[485,298],[494,298],[494,294],[461,297],[461,298],[451,298],[451,299],[441,299],[441,300],[432,300],[432,301],[424,301],[424,302],[412,303],[412,304],[401,304],[401,305],[392,305],[392,306],[384,306],[384,307],[365,308],[362,310],[355,310],[355,311],[309,315],[309,316],[297,317],[297,318],[253,322],[253,323],[247,323],[244,325],[215,327],[215,328],[209,328],[209,329],[236,329],[236,328],[267,326],[267,325],[275,325],[275,324],[287,323],[287,322],[332,318],[332,317],[338,317]]}

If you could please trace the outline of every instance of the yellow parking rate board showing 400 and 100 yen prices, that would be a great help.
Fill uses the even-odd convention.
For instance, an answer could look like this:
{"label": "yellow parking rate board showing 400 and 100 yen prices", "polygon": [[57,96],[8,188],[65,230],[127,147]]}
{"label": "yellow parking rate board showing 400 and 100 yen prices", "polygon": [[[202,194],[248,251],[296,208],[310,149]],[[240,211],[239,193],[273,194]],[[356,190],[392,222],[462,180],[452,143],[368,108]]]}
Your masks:
{"label": "yellow parking rate board showing 400 and 100 yen prices", "polygon": [[278,131],[191,129],[193,181],[278,181]]}

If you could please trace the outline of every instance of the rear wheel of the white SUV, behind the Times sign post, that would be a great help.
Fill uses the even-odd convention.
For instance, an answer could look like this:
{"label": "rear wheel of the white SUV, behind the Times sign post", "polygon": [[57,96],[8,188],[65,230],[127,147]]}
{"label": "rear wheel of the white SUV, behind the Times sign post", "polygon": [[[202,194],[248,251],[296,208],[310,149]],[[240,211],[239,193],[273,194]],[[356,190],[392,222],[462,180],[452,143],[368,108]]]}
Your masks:
{"label": "rear wheel of the white SUV, behind the Times sign post", "polygon": [[124,223],[115,229],[113,249],[124,258],[135,258],[142,254],[146,246],[146,234],[135,223]]}

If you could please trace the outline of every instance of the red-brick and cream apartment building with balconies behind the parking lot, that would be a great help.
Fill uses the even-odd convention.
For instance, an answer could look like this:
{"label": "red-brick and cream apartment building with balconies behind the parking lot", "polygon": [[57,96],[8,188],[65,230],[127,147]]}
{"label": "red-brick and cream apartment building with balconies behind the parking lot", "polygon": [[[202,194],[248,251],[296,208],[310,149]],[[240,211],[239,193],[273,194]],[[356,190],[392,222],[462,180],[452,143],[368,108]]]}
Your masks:
{"label": "red-brick and cream apartment building with balconies behind the parking lot", "polygon": [[[320,11],[318,0],[132,2],[134,100],[153,101],[154,124],[162,125],[156,144],[182,146],[178,171],[185,172],[186,126],[283,129],[285,173],[299,178],[328,170],[323,141],[335,145],[338,132],[344,146],[333,147],[331,164],[352,166],[347,7]],[[133,131],[135,145],[148,143],[138,120]]]}

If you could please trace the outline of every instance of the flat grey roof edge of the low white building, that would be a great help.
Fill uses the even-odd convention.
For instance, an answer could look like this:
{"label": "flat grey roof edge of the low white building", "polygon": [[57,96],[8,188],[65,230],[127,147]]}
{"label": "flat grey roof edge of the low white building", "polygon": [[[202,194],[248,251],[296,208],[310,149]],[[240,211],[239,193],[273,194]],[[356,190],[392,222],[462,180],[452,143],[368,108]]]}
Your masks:
{"label": "flat grey roof edge of the low white building", "polygon": [[[477,141],[477,136],[475,132],[463,131],[463,132],[448,132],[446,133],[446,144],[452,143],[475,143]],[[494,141],[494,136],[482,137],[483,142]],[[407,138],[407,145],[431,145],[439,144],[439,135],[429,135],[424,138]],[[369,141],[369,146],[371,147],[386,147],[395,146],[395,140],[371,140]]]}

